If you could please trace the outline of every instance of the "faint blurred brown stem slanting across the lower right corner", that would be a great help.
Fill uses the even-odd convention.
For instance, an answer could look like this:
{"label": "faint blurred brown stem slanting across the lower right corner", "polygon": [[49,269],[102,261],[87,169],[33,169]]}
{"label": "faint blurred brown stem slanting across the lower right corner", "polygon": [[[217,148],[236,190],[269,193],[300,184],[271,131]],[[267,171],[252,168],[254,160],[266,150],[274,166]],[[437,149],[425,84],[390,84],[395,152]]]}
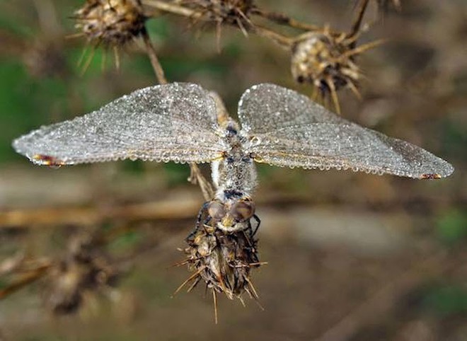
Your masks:
{"label": "faint blurred brown stem slanting across the lower right corner", "polygon": [[345,318],[342,318],[339,323],[326,331],[321,337],[318,337],[316,341],[350,340],[352,335],[357,333],[364,325],[374,322],[378,316],[385,316],[385,313],[397,304],[400,296],[422,284],[425,279],[437,278],[444,272],[449,271],[449,267],[446,268],[446,264],[449,264],[449,262],[446,262],[447,256],[444,250],[438,251],[432,257],[410,267],[400,277],[385,284],[376,294],[354,309]]}

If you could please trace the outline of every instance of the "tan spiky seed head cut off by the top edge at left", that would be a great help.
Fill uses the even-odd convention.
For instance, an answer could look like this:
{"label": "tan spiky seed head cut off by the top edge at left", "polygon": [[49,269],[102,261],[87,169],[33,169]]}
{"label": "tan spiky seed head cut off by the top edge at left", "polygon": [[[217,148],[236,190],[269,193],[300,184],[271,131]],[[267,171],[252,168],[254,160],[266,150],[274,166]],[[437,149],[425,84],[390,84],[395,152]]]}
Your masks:
{"label": "tan spiky seed head cut off by the top edge at left", "polygon": [[120,47],[144,30],[140,0],[87,0],[75,12],[75,27],[94,45]]}

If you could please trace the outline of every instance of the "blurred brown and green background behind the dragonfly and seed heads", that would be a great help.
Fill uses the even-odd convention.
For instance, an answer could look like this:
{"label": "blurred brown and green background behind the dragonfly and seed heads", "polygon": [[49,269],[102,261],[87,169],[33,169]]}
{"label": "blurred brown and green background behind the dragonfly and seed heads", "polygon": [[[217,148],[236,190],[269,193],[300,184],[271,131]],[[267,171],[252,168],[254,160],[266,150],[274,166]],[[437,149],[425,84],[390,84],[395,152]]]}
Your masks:
{"label": "blurred brown and green background behind the dragonfly and seed heads", "polygon": [[[188,166],[117,162],[51,169],[11,149],[35,127],[90,112],[156,83],[140,42],[97,49],[77,66],[77,0],[0,2],[0,289],[15,257],[66,257],[70,236],[119,231],[107,245],[121,274],[115,287],[83,296],[78,311],[54,315],[47,275],[0,302],[0,340],[467,340],[467,4],[403,0],[364,17],[362,42],[388,38],[358,59],[363,99],[340,91],[342,116],[422,146],[454,165],[450,178],[420,181],[260,165],[260,260],[252,280],[260,304],[212,298],[188,276],[177,248],[203,198]],[[384,2],[384,1],[383,1]],[[391,2],[391,1],[388,1]],[[397,2],[397,1],[396,1]],[[354,1],[258,1],[270,11],[349,30]],[[289,52],[225,26],[163,15],[147,21],[169,81],[200,83],[226,101],[272,82],[311,95],[290,74]],[[275,26],[282,33],[299,33]],[[89,51],[89,50],[88,50]],[[207,168],[203,168],[209,174]],[[32,281],[31,281],[32,282]],[[49,295],[50,296],[50,295]]]}

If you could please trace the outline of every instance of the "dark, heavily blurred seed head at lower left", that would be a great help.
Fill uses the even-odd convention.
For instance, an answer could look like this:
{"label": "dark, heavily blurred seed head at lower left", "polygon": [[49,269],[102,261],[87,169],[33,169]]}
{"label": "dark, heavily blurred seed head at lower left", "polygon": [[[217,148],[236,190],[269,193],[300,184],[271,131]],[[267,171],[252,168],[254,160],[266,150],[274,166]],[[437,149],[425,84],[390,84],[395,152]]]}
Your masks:
{"label": "dark, heavily blurred seed head at lower left", "polygon": [[71,238],[68,254],[50,272],[46,300],[54,313],[74,313],[81,307],[86,291],[115,285],[117,271],[102,247],[93,236]]}

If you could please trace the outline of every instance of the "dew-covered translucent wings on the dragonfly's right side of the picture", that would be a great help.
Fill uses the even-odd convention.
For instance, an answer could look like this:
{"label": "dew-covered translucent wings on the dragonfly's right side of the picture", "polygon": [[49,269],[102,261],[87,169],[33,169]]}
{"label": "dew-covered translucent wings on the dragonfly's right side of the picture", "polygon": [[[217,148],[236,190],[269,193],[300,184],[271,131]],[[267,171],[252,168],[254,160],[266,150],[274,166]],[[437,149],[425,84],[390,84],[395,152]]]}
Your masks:
{"label": "dew-covered translucent wings on the dragonfly's right side of the picture", "polygon": [[444,178],[454,168],[406,141],[361,127],[273,84],[248,89],[238,105],[248,151],[274,166],[353,169],[410,178]]}

